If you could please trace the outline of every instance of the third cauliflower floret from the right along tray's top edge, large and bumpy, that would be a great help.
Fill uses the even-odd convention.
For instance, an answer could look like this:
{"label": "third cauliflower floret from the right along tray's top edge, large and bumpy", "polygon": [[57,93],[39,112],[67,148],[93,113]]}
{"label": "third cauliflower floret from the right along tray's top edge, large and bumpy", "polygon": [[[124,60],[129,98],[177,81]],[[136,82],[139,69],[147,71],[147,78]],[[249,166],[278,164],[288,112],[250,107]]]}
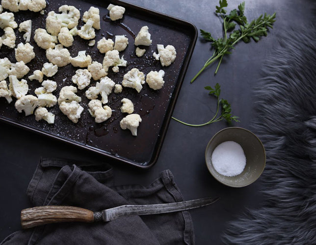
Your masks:
{"label": "third cauliflower floret from the right along tray's top edge, large and bumpy", "polygon": [[56,14],[56,18],[61,20],[62,27],[68,27],[68,29],[72,29],[78,25],[80,11],[76,7],[62,5],[58,8],[58,11],[61,12],[61,14]]}

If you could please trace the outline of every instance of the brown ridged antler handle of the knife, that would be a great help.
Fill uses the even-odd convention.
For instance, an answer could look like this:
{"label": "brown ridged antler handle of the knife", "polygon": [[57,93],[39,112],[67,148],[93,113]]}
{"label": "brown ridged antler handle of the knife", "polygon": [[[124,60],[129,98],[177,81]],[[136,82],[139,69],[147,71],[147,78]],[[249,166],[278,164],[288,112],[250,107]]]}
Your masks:
{"label": "brown ridged antler handle of the knife", "polygon": [[88,209],[71,206],[41,206],[21,211],[23,229],[42,224],[71,221],[94,222],[94,213]]}

